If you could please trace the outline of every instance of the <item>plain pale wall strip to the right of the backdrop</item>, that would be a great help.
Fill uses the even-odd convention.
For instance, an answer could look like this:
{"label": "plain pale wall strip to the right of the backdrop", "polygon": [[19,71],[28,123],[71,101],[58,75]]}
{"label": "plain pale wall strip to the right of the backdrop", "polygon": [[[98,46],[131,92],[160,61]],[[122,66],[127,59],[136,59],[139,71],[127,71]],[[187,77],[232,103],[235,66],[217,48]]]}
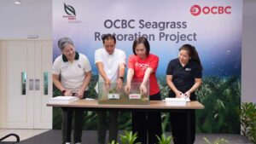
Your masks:
{"label": "plain pale wall strip to the right of the backdrop", "polygon": [[243,5],[243,36],[241,50],[241,101],[256,102],[256,1]]}

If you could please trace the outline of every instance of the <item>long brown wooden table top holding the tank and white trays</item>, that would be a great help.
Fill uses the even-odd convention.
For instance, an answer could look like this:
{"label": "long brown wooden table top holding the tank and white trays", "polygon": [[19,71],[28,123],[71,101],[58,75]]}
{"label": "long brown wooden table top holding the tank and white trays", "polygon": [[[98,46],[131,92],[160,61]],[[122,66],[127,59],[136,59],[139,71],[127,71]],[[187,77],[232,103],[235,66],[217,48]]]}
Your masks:
{"label": "long brown wooden table top holding the tank and white trays", "polygon": [[68,104],[47,104],[48,107],[84,107],[84,108],[111,108],[111,109],[204,109],[198,101],[189,101],[186,106],[170,106],[166,101],[150,101],[148,105],[106,105],[98,104],[97,100],[79,100]]}

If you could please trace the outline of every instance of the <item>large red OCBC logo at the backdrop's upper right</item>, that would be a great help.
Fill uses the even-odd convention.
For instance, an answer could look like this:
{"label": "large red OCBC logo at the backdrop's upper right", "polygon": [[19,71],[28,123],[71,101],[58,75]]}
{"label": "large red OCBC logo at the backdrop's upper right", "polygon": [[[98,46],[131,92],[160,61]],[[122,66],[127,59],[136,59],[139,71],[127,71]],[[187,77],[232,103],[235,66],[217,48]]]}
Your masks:
{"label": "large red OCBC logo at the backdrop's upper right", "polygon": [[230,6],[213,6],[213,7],[202,7],[199,5],[193,5],[190,9],[190,13],[194,16],[199,14],[231,14],[231,7]]}

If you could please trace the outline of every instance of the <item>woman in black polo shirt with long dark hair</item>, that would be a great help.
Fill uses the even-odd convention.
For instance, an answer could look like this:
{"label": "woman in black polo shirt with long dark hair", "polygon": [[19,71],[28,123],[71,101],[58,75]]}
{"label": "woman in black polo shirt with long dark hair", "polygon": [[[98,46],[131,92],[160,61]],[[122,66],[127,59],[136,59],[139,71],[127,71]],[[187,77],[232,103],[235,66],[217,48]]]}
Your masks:
{"label": "woman in black polo shirt with long dark hair", "polygon": [[[195,89],[201,85],[201,60],[194,46],[184,44],[178,58],[171,60],[166,70],[166,83],[171,88],[169,97],[189,97],[196,100]],[[187,123],[184,113],[170,112],[174,144],[187,144]],[[191,143],[195,141],[195,110],[191,110]]]}

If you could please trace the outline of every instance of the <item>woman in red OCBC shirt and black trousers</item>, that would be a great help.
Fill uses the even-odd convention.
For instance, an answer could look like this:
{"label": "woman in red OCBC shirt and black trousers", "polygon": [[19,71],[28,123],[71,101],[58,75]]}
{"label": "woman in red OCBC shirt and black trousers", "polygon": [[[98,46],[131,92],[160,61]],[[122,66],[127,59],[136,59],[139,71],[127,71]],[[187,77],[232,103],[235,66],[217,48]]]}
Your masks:
{"label": "woman in red OCBC shirt and black trousers", "polygon": [[[160,100],[160,89],[155,77],[159,62],[158,56],[149,54],[150,46],[146,37],[137,37],[133,42],[132,50],[134,55],[130,55],[128,60],[125,91],[130,92],[131,81],[141,79],[141,94],[145,94],[149,90],[150,100]],[[148,80],[149,89],[146,87]],[[132,112],[132,132],[137,132],[138,142],[143,144],[157,143],[156,135],[160,136],[162,134],[160,112]]]}

